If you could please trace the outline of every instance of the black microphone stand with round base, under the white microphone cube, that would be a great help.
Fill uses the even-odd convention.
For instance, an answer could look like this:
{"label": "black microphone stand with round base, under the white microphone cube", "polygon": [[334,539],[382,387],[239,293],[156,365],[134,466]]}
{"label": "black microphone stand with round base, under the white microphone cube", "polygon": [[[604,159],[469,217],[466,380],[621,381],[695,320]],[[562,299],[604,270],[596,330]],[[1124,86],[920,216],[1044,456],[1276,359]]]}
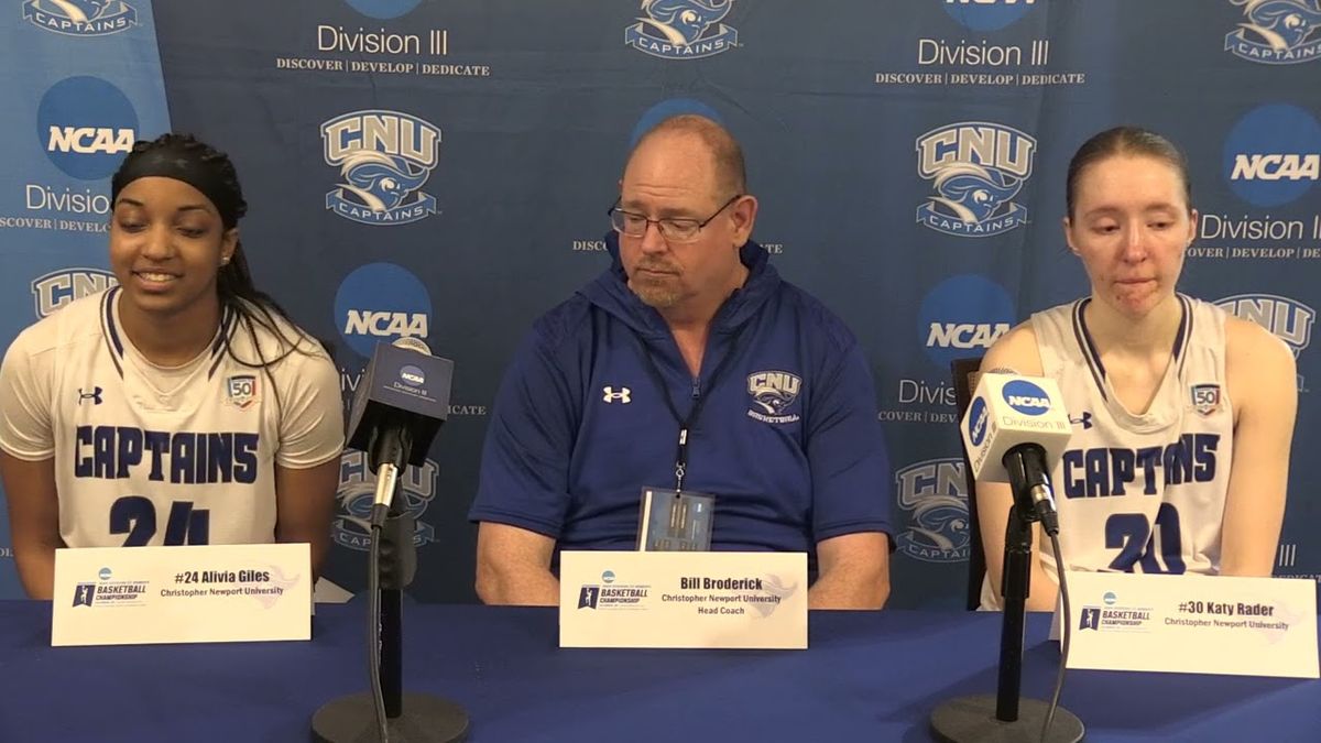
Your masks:
{"label": "black microphone stand with round base, under the white microphone cube", "polygon": [[[1040,448],[1040,447],[1038,447]],[[1024,468],[1024,457],[1004,457],[1013,489],[1009,524],[1004,535],[1004,567],[1000,584],[1004,612],[1000,625],[1000,666],[996,695],[958,697],[942,702],[931,711],[931,734],[942,743],[1077,743],[1083,724],[1063,707],[1055,709],[1050,730],[1042,732],[1050,705],[1041,699],[1021,698],[1022,639],[1028,594],[1032,582],[1032,524],[1037,521],[1033,487]]]}

